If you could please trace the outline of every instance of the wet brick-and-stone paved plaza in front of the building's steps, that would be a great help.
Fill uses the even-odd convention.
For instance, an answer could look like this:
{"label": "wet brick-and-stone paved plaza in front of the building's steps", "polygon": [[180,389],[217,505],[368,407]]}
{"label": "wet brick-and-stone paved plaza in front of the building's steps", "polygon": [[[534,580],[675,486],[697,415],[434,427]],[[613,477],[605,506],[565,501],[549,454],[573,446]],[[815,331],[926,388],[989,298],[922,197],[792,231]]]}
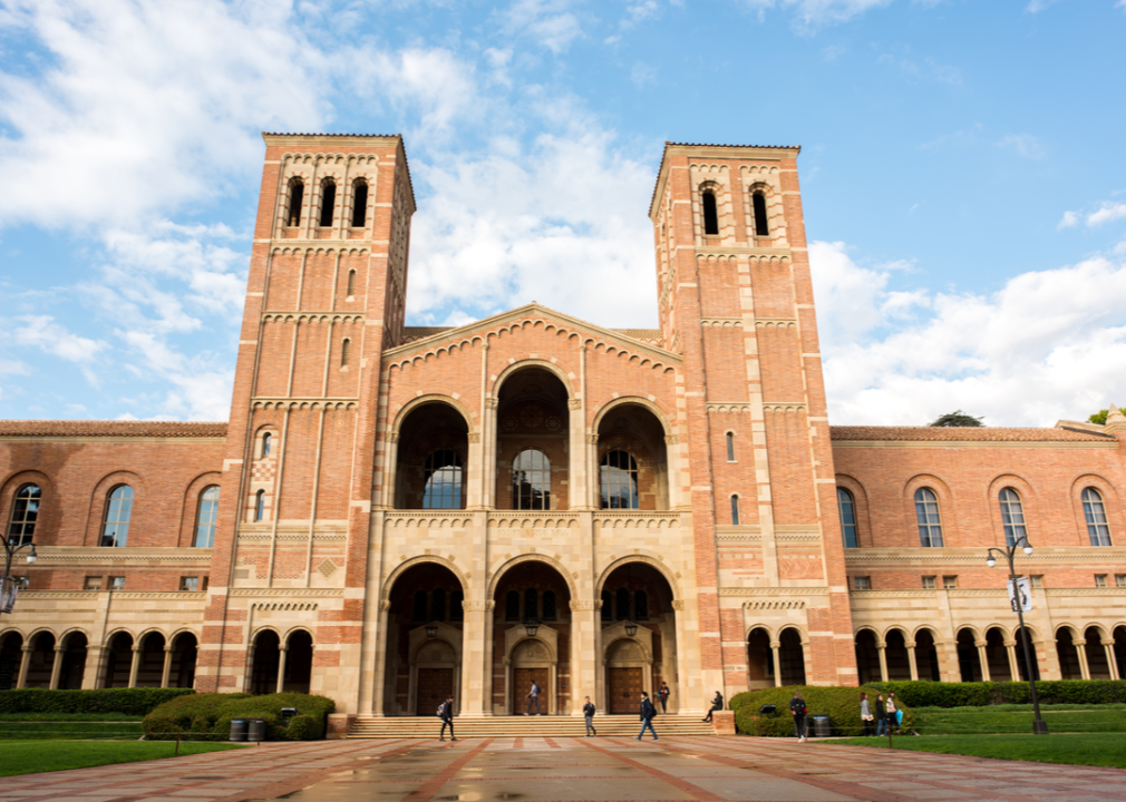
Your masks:
{"label": "wet brick-and-stone paved plaza in front of the building's steps", "polygon": [[1126,802],[1126,771],[779,739],[492,738],[248,747],[0,782],[0,801]]}

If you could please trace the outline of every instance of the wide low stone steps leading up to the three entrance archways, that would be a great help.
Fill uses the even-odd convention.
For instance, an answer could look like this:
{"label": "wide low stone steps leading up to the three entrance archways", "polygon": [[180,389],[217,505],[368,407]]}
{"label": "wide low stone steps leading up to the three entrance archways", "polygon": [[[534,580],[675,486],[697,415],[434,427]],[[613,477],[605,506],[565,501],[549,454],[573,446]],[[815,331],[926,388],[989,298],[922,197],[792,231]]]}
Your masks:
{"label": "wide low stone steps leading up to the three entrance archways", "polygon": [[[574,715],[490,715],[479,719],[457,718],[454,727],[458,738],[574,738],[587,733],[583,721]],[[713,736],[712,724],[696,717],[658,715],[653,720],[656,735]],[[641,721],[636,715],[597,715],[595,729],[599,736],[636,736]],[[360,715],[348,731],[349,738],[437,738],[441,721],[435,715],[377,718]],[[649,736],[646,735],[646,738]]]}

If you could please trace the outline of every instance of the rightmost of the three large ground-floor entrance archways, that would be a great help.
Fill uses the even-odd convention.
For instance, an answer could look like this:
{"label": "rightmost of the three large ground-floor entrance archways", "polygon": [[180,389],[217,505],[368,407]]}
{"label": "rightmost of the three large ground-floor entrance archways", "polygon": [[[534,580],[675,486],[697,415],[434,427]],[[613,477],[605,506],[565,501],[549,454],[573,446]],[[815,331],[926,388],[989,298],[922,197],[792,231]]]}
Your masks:
{"label": "rightmost of the three large ground-floor entrance archways", "polygon": [[651,697],[669,685],[669,711],[680,709],[677,672],[677,612],[673,591],[654,566],[626,561],[602,582],[601,630],[602,701],[614,712],[628,700],[635,712],[642,691]]}

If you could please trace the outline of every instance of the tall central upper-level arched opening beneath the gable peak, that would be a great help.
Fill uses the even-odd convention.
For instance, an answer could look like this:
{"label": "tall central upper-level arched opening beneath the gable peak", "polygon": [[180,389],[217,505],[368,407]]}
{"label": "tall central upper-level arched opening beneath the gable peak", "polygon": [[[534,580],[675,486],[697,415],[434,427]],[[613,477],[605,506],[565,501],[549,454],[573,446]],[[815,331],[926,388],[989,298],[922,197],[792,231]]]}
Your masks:
{"label": "tall central upper-level arched opening beneath the gable peak", "polygon": [[506,378],[497,404],[499,510],[568,510],[570,413],[566,387],[545,368]]}

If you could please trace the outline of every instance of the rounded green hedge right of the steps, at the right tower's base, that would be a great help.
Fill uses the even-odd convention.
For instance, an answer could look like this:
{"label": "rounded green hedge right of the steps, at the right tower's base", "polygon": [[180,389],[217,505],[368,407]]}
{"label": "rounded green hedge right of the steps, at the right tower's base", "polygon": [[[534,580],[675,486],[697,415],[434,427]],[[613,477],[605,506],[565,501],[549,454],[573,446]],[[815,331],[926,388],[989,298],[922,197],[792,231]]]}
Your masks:
{"label": "rounded green hedge right of the steps, at the right tower's base", "polygon": [[[731,699],[731,709],[735,712],[735,727],[748,736],[793,738],[794,719],[789,714],[789,700],[794,697],[795,690],[799,690],[802,697],[805,699],[810,715],[810,735],[813,733],[813,717],[828,715],[834,736],[861,735],[864,722],[860,721],[860,693],[868,694],[873,715],[876,713],[876,694],[881,693],[870,685],[864,687],[789,685],[740,693]],[[886,696],[886,692],[884,695]],[[914,727],[914,713],[911,712],[909,704],[900,700],[899,691],[895,692],[895,700],[896,706],[903,711],[901,728],[903,731],[909,731]],[[777,715],[760,715],[759,708],[763,704],[778,705]]]}

